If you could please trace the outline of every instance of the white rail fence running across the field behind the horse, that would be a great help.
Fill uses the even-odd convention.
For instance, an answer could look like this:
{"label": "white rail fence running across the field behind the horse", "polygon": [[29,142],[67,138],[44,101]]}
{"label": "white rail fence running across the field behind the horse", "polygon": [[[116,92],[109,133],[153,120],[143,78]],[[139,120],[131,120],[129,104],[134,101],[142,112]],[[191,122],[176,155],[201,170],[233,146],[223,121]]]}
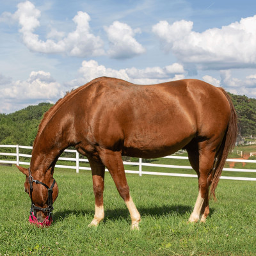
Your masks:
{"label": "white rail fence running across the field behind the horse", "polygon": [[[15,153],[9,153],[9,152],[0,152],[0,156],[12,156],[16,157],[16,160],[3,160],[0,158],[0,163],[5,163],[5,164],[25,164],[29,165],[30,161],[20,161],[20,157],[28,157],[31,158],[31,154],[20,154],[20,148],[25,148],[32,150],[32,147],[27,147],[27,146],[20,146],[20,145],[0,145],[0,148],[15,148]],[[1,151],[1,150],[0,150]],[[76,154],[76,157],[59,157],[58,160],[60,161],[73,161],[76,162],[76,165],[70,166],[70,165],[61,165],[61,164],[56,164],[56,167],[58,168],[68,168],[68,169],[75,169],[77,173],[79,173],[79,170],[91,170],[90,167],[85,167],[85,166],[80,166],[79,163],[88,163],[88,159],[81,159],[79,158],[79,153],[76,150],[70,150],[66,149],[64,152],[72,152]],[[180,151],[180,153],[182,153]],[[166,156],[163,158],[170,158],[170,159],[188,159],[186,156]],[[227,159],[227,162],[241,162],[241,163],[255,163],[256,160],[245,160],[245,159]],[[196,177],[196,174],[183,174],[183,173],[166,173],[166,172],[147,172],[143,171],[142,167],[143,166],[153,166],[153,167],[162,167],[162,168],[178,168],[178,169],[192,169],[191,166],[187,165],[171,165],[171,164],[154,164],[154,163],[143,163],[142,159],[140,158],[138,162],[130,162],[130,161],[124,161],[125,165],[132,165],[132,166],[139,166],[138,171],[134,170],[125,170],[126,173],[137,173],[140,176],[142,174],[148,174],[148,175],[164,175],[164,176],[177,176],[177,177]],[[108,170],[106,170],[108,171]],[[256,173],[255,169],[237,169],[237,168],[223,168],[223,171],[228,171],[228,172],[243,172],[243,173]],[[256,178],[251,178],[251,177],[226,177],[226,176],[221,176],[221,179],[228,179],[228,180],[253,180],[256,181]]]}

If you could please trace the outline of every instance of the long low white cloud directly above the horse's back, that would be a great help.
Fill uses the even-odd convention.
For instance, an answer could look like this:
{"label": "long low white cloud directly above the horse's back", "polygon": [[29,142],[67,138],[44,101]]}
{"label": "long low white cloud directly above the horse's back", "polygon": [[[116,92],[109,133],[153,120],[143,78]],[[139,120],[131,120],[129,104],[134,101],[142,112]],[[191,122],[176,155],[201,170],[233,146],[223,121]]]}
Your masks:
{"label": "long low white cloud directly above the horse's back", "polygon": [[99,65],[95,60],[90,60],[83,61],[79,72],[82,74],[83,78],[73,80],[73,85],[76,83],[87,83],[100,76],[116,77],[138,84],[162,83],[165,81],[183,79],[185,71],[179,63],[174,63],[173,65],[168,65],[163,68],[150,67],[138,69],[132,67],[116,70],[107,68],[104,65]]}

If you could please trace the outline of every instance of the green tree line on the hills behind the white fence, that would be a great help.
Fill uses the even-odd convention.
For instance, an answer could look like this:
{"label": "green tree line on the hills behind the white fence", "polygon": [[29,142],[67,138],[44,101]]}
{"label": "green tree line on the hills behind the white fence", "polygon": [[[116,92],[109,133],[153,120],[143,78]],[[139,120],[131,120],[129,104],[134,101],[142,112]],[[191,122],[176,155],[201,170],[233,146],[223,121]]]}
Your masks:
{"label": "green tree line on the hills behind the white fence", "polygon": [[[250,99],[245,95],[228,94],[236,108],[239,133],[241,136],[255,136],[256,99]],[[8,115],[0,113],[0,145],[32,146],[38,125],[51,106],[50,103],[40,103]]]}

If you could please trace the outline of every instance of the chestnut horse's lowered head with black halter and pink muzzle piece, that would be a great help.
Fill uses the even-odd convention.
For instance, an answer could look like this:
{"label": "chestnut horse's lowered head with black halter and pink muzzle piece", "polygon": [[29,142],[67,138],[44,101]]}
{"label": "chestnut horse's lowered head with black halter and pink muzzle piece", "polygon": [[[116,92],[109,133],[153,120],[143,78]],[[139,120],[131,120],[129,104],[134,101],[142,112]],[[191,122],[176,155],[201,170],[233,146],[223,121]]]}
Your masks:
{"label": "chestnut horse's lowered head with black halter and pink muzzle piece", "polygon": [[58,185],[52,177],[51,170],[45,175],[35,172],[31,175],[30,169],[17,166],[20,172],[26,175],[25,192],[31,198],[29,221],[38,226],[49,226],[52,223],[52,204],[58,196]]}

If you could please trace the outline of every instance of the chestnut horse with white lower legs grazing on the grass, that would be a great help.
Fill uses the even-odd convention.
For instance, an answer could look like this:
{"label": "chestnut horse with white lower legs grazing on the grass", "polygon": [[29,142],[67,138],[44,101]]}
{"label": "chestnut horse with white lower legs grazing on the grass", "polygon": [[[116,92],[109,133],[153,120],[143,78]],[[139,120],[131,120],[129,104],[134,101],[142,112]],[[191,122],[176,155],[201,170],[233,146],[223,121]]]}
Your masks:
{"label": "chestnut horse with white lower legs grazing on the grass", "polygon": [[183,148],[198,175],[198,197],[189,222],[204,222],[209,194],[215,196],[236,137],[236,111],[223,88],[197,79],[139,85],[99,77],[67,93],[45,113],[30,167],[17,167],[26,175],[31,211],[42,223],[58,196],[56,161],[65,148],[75,147],[92,169],[95,215],[89,226],[104,218],[106,167],[127,205],[131,228],[138,229],[141,216],[129,193],[122,156],[163,157]]}

